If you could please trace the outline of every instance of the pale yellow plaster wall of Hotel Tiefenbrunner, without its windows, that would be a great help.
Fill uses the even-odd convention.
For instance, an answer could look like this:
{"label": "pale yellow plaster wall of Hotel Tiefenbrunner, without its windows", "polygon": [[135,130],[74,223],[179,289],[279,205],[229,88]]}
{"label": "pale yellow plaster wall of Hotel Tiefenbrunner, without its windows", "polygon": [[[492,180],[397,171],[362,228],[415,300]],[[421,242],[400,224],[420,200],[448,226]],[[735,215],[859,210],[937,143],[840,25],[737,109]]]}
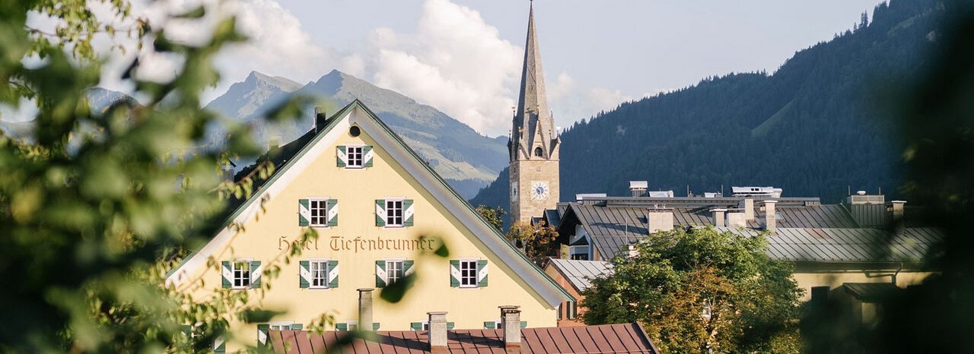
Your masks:
{"label": "pale yellow plaster wall of Hotel Tiefenbrunner, without its windows", "polygon": [[[357,110],[353,115],[353,118],[356,117],[367,119]],[[556,325],[557,314],[554,307],[529,290],[530,286],[502,264],[470,230],[451,216],[442,204],[410,176],[405,168],[367,136],[365,129],[362,129],[358,137],[352,137],[348,133],[348,126],[336,126],[335,129],[341,132],[338,140],[324,149],[324,153],[314,159],[279,195],[267,200],[264,204],[266,212],[258,213],[256,217],[247,220],[244,230],[235,235],[230,246],[213,257],[216,261],[252,258],[262,261],[266,267],[286,251],[282,246],[285,241],[282,241],[281,236],[286,237],[284,240],[291,240],[302,230],[298,226],[299,198],[328,196],[339,200],[338,226],[317,228],[317,246],[305,250],[299,257],[339,261],[338,288],[300,289],[297,262],[279,264],[280,277],[271,280],[272,289],[259,301],[266,308],[288,310],[287,314],[274,320],[293,320],[295,323],[305,324],[306,328],[312,319],[325,312],[335,313],[339,322],[357,320],[356,289],[375,287],[375,261],[406,258],[415,260],[418,280],[406,298],[399,303],[381,301],[378,299],[378,291],[374,293],[376,300],[373,322],[381,324],[380,331],[409,330],[410,322],[425,320],[429,311],[447,311],[447,320],[454,322],[456,329],[481,329],[484,321],[500,317],[498,306],[509,304],[521,306],[521,319],[527,321],[529,327]],[[351,143],[373,146],[375,157],[372,167],[344,169],[336,166],[336,146]],[[308,158],[309,156],[305,157]],[[375,226],[375,199],[387,196],[414,199],[414,227],[391,229]],[[333,236],[365,239],[381,236],[384,239],[412,240],[421,234],[443,237],[450,250],[449,259],[488,259],[488,286],[475,289],[451,288],[447,259],[419,257],[417,251],[336,252],[330,242]],[[199,272],[202,273],[206,289],[190,290],[188,284],[181,284],[186,291],[192,291],[198,298],[212,294],[211,289],[221,285],[220,273],[216,269],[200,269]],[[262,281],[268,280],[264,278]],[[249,291],[256,298],[258,292]],[[238,339],[245,343],[256,342],[255,325],[235,323],[232,328]],[[236,347],[233,342],[228,345],[231,350]]]}

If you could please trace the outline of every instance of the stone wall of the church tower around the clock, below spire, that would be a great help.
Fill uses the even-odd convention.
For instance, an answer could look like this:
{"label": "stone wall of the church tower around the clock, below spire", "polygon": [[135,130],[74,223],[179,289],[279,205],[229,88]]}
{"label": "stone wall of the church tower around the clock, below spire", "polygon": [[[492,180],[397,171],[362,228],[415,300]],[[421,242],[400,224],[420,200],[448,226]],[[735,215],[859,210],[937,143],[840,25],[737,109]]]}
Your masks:
{"label": "stone wall of the church tower around the clock, below spire", "polygon": [[[545,209],[554,209],[560,195],[560,178],[557,159],[519,159],[510,162],[510,220],[511,222],[530,222],[533,217],[541,217]],[[532,198],[533,185],[543,182],[547,185],[547,198]],[[517,195],[513,195],[514,185]]]}

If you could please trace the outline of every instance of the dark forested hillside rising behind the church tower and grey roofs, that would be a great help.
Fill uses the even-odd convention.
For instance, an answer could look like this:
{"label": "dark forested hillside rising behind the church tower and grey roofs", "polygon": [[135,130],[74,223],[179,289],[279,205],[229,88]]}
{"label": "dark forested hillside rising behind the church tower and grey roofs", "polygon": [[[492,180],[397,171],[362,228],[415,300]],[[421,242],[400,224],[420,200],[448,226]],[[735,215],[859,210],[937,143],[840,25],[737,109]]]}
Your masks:
{"label": "dark forested hillside rising behind the church tower and grey roofs", "polygon": [[[625,195],[629,180],[677,195],[689,185],[696,194],[774,186],[827,202],[847,187],[895,196],[894,97],[922,70],[942,15],[934,0],[880,4],[872,22],[795,53],[772,75],[708,78],[575,124],[561,136],[561,199]],[[507,195],[505,170],[471,202],[506,208]]]}

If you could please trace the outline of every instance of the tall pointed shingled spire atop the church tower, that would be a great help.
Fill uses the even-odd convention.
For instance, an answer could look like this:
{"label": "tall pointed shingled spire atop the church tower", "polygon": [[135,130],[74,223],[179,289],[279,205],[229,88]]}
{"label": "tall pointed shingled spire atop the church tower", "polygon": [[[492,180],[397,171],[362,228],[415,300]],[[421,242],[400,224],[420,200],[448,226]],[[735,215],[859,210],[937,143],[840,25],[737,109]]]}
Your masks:
{"label": "tall pointed shingled spire atop the church tower", "polygon": [[[535,30],[532,2],[528,15],[528,38],[524,44],[524,67],[521,69],[521,91],[510,131],[510,159],[557,159],[557,136],[544,89],[542,53]],[[542,148],[542,156],[538,156]]]}

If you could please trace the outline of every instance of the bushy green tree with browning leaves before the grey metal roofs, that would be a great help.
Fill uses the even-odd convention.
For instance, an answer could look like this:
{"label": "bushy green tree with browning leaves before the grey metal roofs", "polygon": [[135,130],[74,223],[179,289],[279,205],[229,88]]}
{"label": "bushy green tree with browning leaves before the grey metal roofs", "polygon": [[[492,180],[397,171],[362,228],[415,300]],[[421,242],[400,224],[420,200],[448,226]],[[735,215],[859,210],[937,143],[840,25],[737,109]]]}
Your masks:
{"label": "bushy green tree with browning leaves before the grey metal roofs", "polygon": [[670,353],[798,352],[802,291],[767,240],[707,229],[656,232],[582,295],[587,324],[640,322]]}

